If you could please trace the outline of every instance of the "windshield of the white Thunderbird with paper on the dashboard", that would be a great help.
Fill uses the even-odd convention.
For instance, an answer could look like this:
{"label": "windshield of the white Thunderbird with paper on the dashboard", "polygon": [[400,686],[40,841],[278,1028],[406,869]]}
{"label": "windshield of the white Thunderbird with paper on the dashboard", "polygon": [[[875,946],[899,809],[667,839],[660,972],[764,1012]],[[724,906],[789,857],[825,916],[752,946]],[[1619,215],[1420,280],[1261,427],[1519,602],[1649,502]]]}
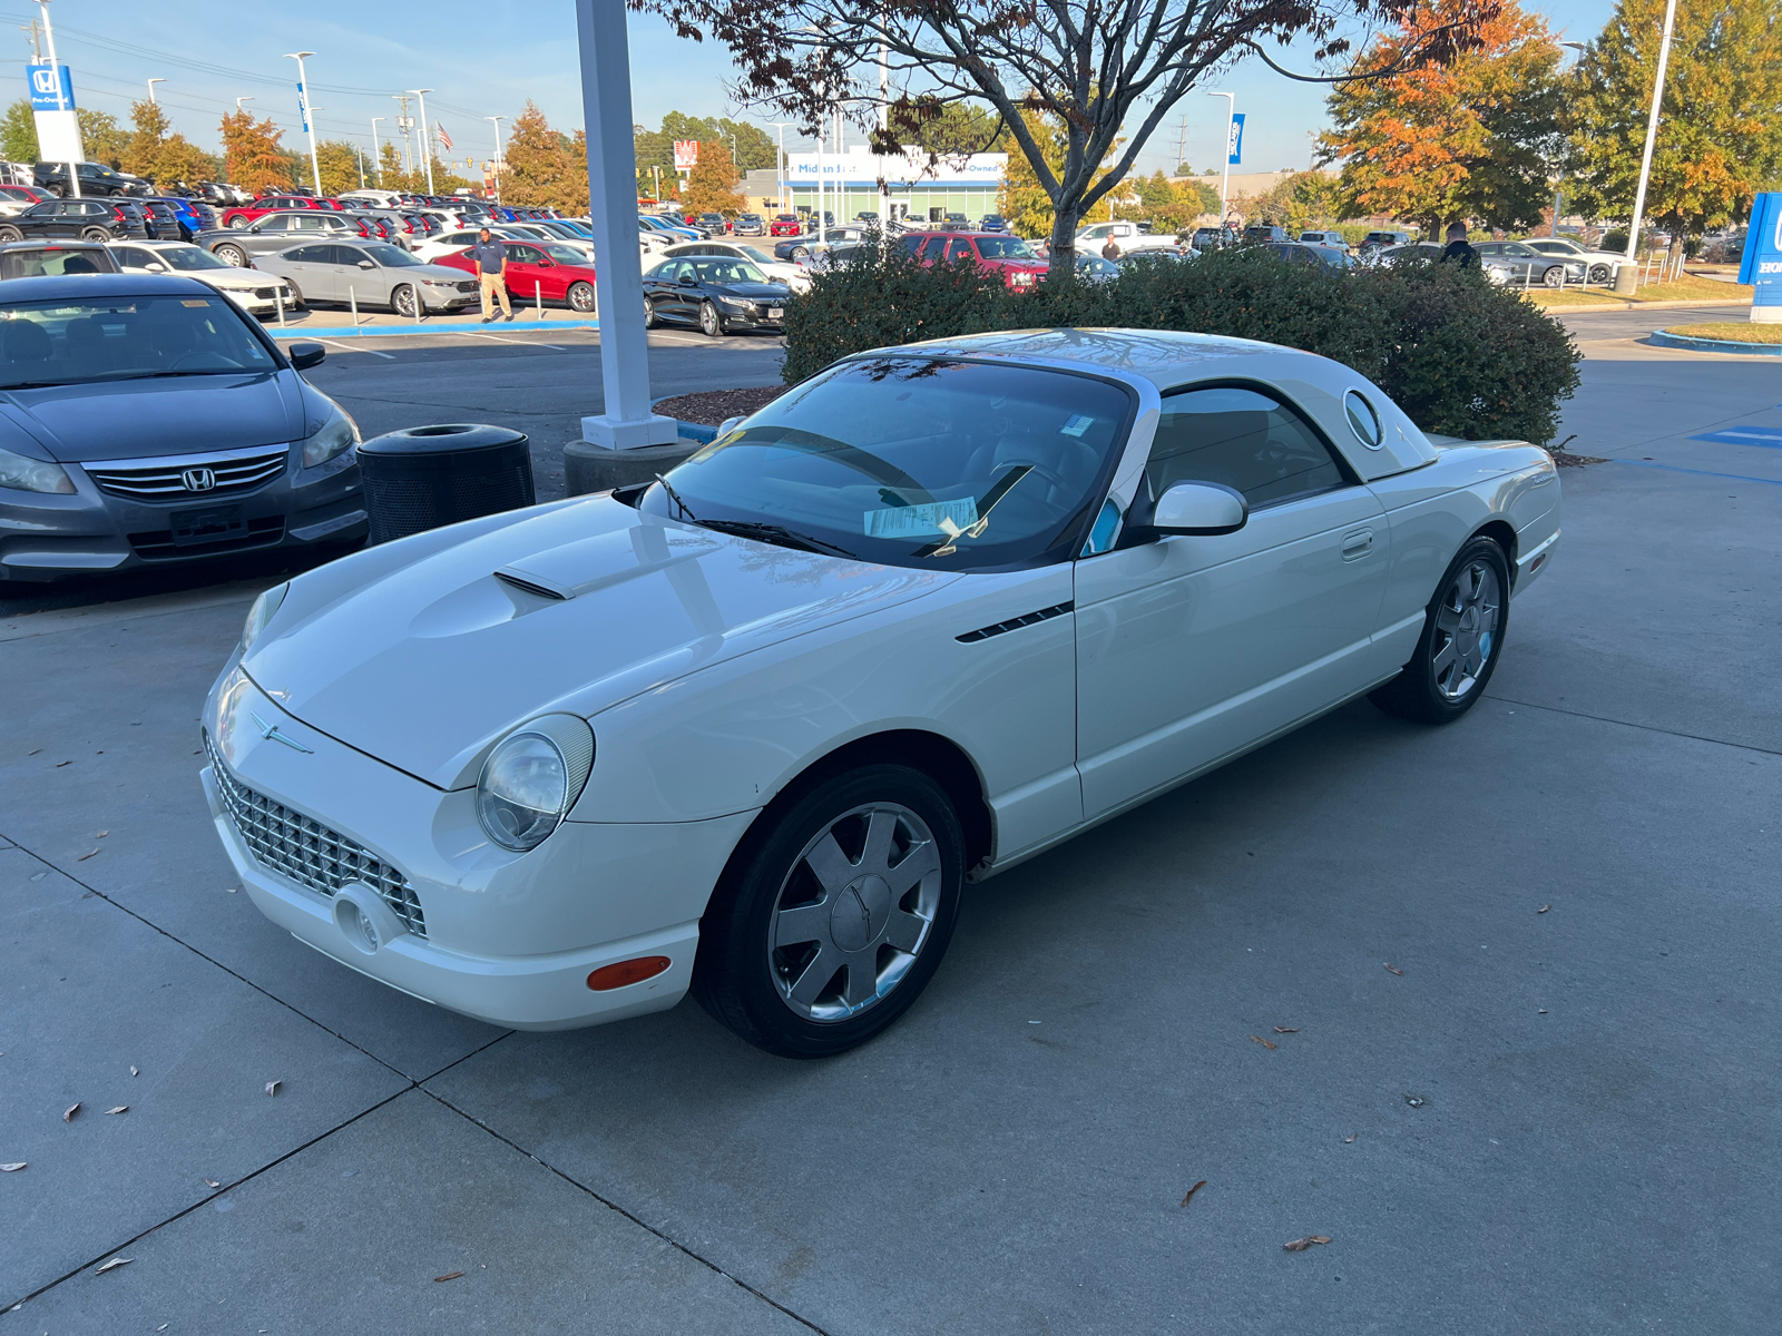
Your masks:
{"label": "windshield of the white Thunderbird with paper on the dashboard", "polygon": [[859,358],[706,445],[640,509],[893,566],[1066,561],[1130,404],[1059,371]]}

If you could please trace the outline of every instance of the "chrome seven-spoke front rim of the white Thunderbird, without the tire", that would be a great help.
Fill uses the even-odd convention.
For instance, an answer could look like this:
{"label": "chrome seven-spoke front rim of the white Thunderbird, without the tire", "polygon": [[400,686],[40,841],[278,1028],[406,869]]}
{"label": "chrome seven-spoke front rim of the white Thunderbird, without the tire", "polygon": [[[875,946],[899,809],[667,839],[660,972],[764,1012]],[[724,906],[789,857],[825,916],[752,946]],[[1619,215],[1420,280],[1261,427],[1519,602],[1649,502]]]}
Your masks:
{"label": "chrome seven-spoke front rim of the white Thunderbird, without the tire", "polygon": [[846,1021],[916,964],[941,903],[941,853],[900,803],[843,812],[791,866],[773,905],[768,973],[809,1021]]}

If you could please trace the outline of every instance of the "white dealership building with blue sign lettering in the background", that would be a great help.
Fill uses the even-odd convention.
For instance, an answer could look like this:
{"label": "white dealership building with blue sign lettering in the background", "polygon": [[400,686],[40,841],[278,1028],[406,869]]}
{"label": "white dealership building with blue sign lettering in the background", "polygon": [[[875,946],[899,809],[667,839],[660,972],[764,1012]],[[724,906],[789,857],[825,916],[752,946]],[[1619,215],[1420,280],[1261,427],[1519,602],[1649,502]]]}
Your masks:
{"label": "white dealership building with blue sign lettering in the background", "polygon": [[964,214],[977,223],[996,212],[996,192],[1009,167],[1007,153],[943,157],[930,164],[923,153],[870,153],[850,146],[845,153],[788,153],[786,182],[772,169],[750,171],[743,192],[748,207],[763,214],[814,214],[818,182],[823,208],[838,223],[855,214],[879,212],[880,180],[891,217],[939,221]]}

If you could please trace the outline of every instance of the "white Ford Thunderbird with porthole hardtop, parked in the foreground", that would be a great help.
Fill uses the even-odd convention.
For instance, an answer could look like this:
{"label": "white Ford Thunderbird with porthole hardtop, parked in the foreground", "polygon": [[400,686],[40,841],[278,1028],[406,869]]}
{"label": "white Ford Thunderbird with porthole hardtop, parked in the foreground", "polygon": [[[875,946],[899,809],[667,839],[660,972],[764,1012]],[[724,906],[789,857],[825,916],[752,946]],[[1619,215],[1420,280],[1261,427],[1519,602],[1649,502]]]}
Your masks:
{"label": "white Ford Thunderbird with porthole hardtop, parked in the foreground", "polygon": [[501,1026],[891,1024],[960,885],[1372,693],[1484,691],[1549,456],[1269,344],[848,358],[663,481],[269,590],[203,716],[253,901]]}

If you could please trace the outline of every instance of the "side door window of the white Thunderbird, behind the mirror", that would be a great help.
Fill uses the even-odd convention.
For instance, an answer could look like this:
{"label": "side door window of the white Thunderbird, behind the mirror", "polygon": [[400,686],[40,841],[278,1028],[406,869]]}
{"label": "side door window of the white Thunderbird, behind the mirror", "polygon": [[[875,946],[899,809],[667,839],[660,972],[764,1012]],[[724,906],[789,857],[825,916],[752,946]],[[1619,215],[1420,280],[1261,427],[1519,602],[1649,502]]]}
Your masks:
{"label": "side door window of the white Thunderbird, behind the mirror", "polygon": [[1344,483],[1336,460],[1296,410],[1237,387],[1167,395],[1144,476],[1153,501],[1176,483],[1224,483],[1253,508]]}

